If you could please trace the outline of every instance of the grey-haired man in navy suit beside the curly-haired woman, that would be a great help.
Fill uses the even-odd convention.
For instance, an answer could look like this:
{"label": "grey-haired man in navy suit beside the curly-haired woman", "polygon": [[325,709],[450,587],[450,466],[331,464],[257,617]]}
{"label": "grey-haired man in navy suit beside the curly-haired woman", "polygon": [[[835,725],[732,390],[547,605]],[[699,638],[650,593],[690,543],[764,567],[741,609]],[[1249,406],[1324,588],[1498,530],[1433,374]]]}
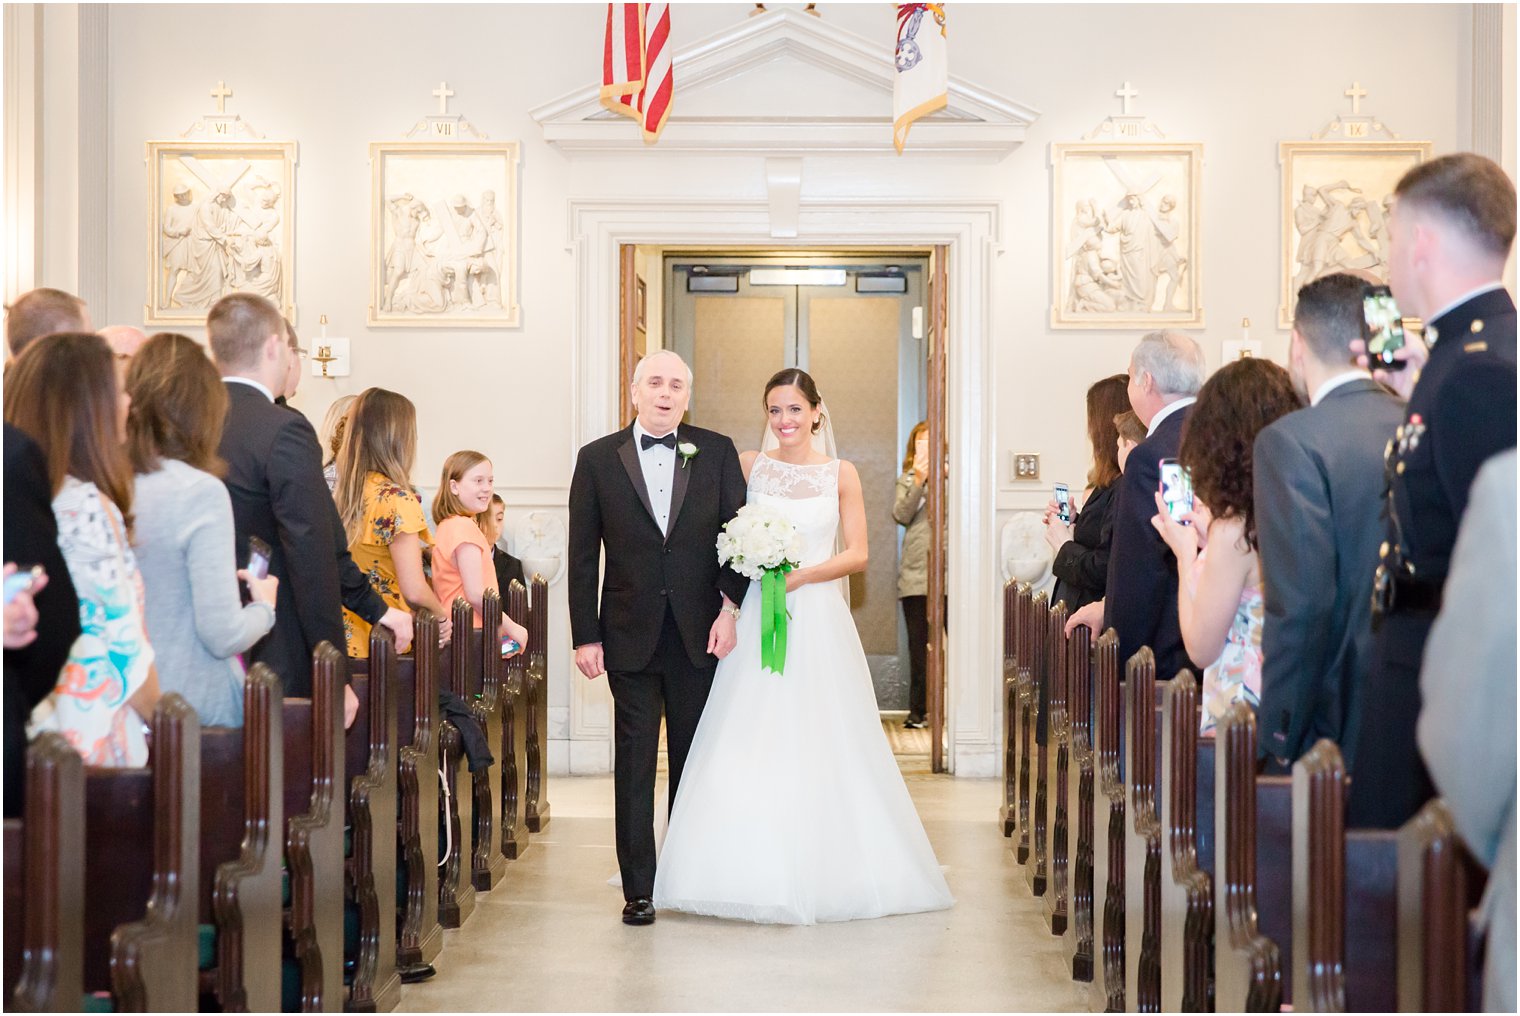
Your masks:
{"label": "grey-haired man in navy suit beside the curly-haired woman", "polygon": [[1072,614],[1067,625],[1116,630],[1122,660],[1151,646],[1163,680],[1192,663],[1176,622],[1176,558],[1151,516],[1161,488],[1161,459],[1176,458],[1183,421],[1202,385],[1204,351],[1190,336],[1167,330],[1140,339],[1129,357],[1129,406],[1146,424],[1146,440],[1129,453],[1119,479],[1105,599]]}

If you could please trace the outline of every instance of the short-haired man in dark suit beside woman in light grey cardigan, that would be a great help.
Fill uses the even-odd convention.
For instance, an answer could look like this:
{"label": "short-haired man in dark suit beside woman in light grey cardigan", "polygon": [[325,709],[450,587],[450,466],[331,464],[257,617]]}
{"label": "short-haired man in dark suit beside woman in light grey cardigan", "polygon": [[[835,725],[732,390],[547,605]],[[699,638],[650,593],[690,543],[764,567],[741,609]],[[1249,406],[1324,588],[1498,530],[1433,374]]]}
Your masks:
{"label": "short-haired man in dark suit beside woman in light grey cardigan", "polygon": [[[211,307],[207,336],[230,397],[217,450],[226,462],[239,560],[246,560],[248,538],[255,535],[271,546],[269,573],[280,578],[275,627],[249,659],[272,668],[286,695],[310,695],[312,651],[324,640],[339,649],[347,645],[345,592],[392,628],[403,649],[412,639],[410,614],[386,608],[372,590],[360,596],[363,575],[347,558],[316,432],[304,415],[274,402],[290,356],[280,312],[261,297],[233,294]],[[344,560],[347,569],[340,567]],[[345,578],[345,572],[351,573]],[[347,722],[357,709],[359,700],[345,692]]]}

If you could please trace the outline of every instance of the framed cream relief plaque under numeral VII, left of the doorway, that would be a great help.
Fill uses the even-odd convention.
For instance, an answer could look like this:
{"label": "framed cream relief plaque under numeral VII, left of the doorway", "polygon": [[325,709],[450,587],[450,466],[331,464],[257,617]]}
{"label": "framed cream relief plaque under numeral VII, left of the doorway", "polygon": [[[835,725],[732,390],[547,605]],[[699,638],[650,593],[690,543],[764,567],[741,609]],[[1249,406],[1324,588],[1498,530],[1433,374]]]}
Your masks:
{"label": "framed cream relief plaque under numeral VII, left of the doorway", "polygon": [[377,141],[369,166],[369,324],[517,327],[517,143]]}

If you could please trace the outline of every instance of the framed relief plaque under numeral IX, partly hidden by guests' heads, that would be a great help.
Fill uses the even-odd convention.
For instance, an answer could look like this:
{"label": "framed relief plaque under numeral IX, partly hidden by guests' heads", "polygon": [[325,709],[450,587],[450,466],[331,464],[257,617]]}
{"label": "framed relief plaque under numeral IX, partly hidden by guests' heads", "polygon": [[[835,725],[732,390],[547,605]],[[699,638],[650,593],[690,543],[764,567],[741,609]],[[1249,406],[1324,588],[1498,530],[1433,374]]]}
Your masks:
{"label": "framed relief plaque under numeral IX, partly hidden by guests' heads", "polygon": [[1281,141],[1283,268],[1278,327],[1294,324],[1300,287],[1365,269],[1388,280],[1388,210],[1398,179],[1430,158],[1430,141]]}

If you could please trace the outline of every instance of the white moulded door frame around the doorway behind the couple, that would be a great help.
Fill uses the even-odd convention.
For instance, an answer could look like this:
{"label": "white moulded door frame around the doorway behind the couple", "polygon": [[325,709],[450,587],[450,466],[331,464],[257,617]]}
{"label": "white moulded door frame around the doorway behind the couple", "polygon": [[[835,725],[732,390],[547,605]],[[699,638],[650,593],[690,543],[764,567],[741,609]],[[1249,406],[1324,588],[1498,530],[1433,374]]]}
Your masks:
{"label": "white moulded door frame around the doorway behind the couple", "polygon": [[[572,449],[619,426],[620,246],[676,248],[912,248],[942,246],[948,262],[944,304],[950,357],[945,440],[950,475],[947,592],[955,604],[945,649],[945,764],[959,776],[993,776],[999,750],[1002,684],[1000,576],[996,554],[996,348],[991,327],[993,259],[1002,242],[997,201],[809,199],[796,234],[771,233],[766,201],[570,201],[575,254]],[[573,465],[573,462],[572,462]],[[968,479],[967,479],[968,478]],[[611,698],[605,681],[576,680],[570,692],[572,771],[611,764]],[[603,764],[602,759],[606,759]]]}

